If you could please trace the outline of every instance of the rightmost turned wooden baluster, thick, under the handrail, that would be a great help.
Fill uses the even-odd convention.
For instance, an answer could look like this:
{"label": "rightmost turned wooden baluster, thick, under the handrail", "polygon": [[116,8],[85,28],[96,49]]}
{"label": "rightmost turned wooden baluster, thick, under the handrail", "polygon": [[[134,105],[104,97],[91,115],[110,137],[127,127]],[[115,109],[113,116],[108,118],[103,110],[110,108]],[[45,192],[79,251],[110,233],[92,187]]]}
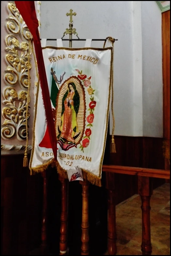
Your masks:
{"label": "rightmost turned wooden baluster, thick, under the handrail", "polygon": [[152,195],[152,183],[148,177],[138,178],[139,194],[142,200],[142,255],[151,255],[151,230],[150,230],[150,198]]}

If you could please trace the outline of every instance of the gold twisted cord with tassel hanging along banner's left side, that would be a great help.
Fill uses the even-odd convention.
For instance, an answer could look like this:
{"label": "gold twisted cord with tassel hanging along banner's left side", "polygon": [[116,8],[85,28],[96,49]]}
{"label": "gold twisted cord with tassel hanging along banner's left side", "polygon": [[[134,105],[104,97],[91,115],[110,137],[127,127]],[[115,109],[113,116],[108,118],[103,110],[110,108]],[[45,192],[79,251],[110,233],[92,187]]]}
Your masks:
{"label": "gold twisted cord with tassel hanging along banner's left side", "polygon": [[26,149],[24,153],[23,159],[23,167],[28,166],[28,104],[29,104],[29,95],[30,95],[30,54],[31,54],[31,38],[29,39],[29,46],[28,46],[28,91],[27,91],[27,105],[26,105]]}

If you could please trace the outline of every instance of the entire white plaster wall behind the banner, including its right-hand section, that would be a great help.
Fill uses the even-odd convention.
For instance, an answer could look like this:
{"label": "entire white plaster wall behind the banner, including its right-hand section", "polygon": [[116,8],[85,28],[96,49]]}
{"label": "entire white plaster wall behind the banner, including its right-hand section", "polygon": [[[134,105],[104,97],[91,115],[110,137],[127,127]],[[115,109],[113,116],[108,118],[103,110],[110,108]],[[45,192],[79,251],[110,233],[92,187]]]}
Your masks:
{"label": "entire white plaster wall behind the banner, including its right-hand section", "polygon": [[[114,46],[115,135],[162,137],[162,20],[156,2],[42,1],[41,37],[61,38],[69,27],[66,12],[70,9],[77,13],[73,20],[80,38],[118,39]],[[63,44],[68,47],[68,42]],[[83,46],[84,42],[73,42],[73,47]],[[110,119],[111,130],[111,115]]]}

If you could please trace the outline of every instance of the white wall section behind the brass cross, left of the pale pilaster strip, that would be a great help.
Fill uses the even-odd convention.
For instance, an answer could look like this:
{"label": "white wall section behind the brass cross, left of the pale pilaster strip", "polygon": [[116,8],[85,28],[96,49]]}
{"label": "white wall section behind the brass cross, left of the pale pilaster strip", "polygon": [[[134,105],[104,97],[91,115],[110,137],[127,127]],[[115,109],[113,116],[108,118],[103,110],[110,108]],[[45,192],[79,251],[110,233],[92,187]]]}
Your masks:
{"label": "white wall section behind the brass cross, left of the pale pilaster strip", "polygon": [[[118,39],[114,44],[115,135],[134,136],[132,1],[41,1],[41,37],[61,38],[69,27],[66,13],[73,9],[74,28],[80,38]],[[65,36],[69,38],[69,36]],[[48,42],[48,45],[56,45]],[[68,42],[64,46],[68,47]],[[73,47],[84,47],[74,42]],[[103,42],[93,42],[103,47]],[[112,121],[112,118],[111,118]],[[110,122],[112,128],[112,122]]]}

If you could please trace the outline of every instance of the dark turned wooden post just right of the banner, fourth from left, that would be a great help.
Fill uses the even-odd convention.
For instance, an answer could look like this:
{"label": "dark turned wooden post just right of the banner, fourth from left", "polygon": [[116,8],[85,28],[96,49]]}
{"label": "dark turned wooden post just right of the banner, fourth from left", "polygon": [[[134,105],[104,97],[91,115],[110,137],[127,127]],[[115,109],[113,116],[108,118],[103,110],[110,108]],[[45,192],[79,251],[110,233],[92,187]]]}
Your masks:
{"label": "dark turned wooden post just right of the banner, fourth from left", "polygon": [[108,253],[116,255],[116,207],[114,191],[114,173],[106,172],[106,188],[108,189]]}

